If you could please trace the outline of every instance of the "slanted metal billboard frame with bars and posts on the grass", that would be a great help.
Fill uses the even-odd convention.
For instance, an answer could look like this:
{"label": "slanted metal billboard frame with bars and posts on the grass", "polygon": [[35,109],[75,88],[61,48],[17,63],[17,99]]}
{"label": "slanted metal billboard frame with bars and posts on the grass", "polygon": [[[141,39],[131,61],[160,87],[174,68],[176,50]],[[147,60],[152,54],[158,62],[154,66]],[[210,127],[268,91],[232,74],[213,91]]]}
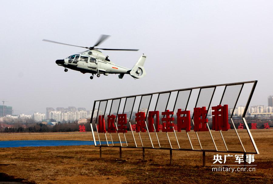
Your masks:
{"label": "slanted metal billboard frame with bars and posts on the grass", "polygon": [[[205,164],[205,152],[242,153],[242,154],[244,154],[244,158],[245,158],[245,155],[246,155],[246,154],[259,154],[258,148],[257,148],[257,146],[256,146],[256,144],[255,144],[255,141],[254,141],[254,139],[253,139],[253,137],[252,137],[252,135],[251,135],[251,132],[250,132],[250,130],[249,130],[249,128],[248,128],[248,125],[247,125],[247,122],[246,122],[246,120],[245,120],[245,115],[246,115],[246,112],[247,112],[247,110],[248,110],[248,106],[249,106],[249,103],[250,103],[251,98],[252,98],[252,96],[253,96],[253,93],[254,93],[254,90],[255,90],[255,87],[256,87],[257,82],[258,82],[257,80],[253,80],[253,81],[238,82],[238,83],[224,83],[224,84],[219,84],[219,85],[192,87],[192,88],[184,88],[184,89],[177,89],[177,90],[168,90],[168,91],[161,91],[161,92],[148,93],[148,94],[138,94],[138,95],[124,96],[124,97],[117,97],[117,98],[108,98],[108,99],[103,99],[103,100],[96,100],[96,101],[94,101],[93,111],[92,111],[91,120],[90,120],[90,126],[91,126],[91,131],[92,131],[92,135],[93,135],[94,144],[95,144],[96,147],[100,147],[100,157],[101,157],[101,148],[102,148],[102,147],[120,148],[120,159],[121,159],[121,148],[141,148],[141,149],[143,150],[143,160],[145,159],[145,149],[170,150],[170,163],[172,163],[172,150],[203,152],[203,165]],[[240,136],[239,136],[239,134],[238,134],[238,131],[237,131],[237,129],[235,128],[233,119],[232,119],[232,116],[233,116],[233,113],[234,113],[234,109],[236,108],[236,105],[237,105],[237,102],[238,102],[239,97],[240,97],[240,95],[241,95],[241,91],[242,91],[242,89],[243,89],[243,87],[244,87],[244,84],[246,84],[246,83],[253,83],[253,86],[252,86],[251,92],[250,92],[250,94],[249,94],[249,96],[248,96],[248,100],[247,100],[247,103],[246,103],[246,105],[245,105],[245,109],[244,109],[244,112],[243,112],[243,115],[242,115],[241,118],[242,118],[242,120],[243,120],[243,122],[244,122],[244,125],[245,125],[246,130],[247,130],[248,135],[249,135],[249,138],[250,138],[250,140],[251,140],[251,142],[252,142],[252,145],[253,145],[253,147],[254,147],[254,149],[255,149],[255,152],[246,152],[246,150],[245,150],[245,148],[244,148],[244,145],[243,145],[243,143],[242,143],[242,141],[241,141],[241,138],[240,138]],[[240,90],[238,91],[238,96],[237,96],[236,101],[235,101],[235,103],[234,103],[233,110],[232,110],[232,113],[231,113],[231,115],[230,115],[230,120],[231,120],[231,124],[233,125],[233,128],[234,128],[234,130],[235,130],[235,132],[236,132],[236,135],[237,135],[237,137],[238,137],[238,140],[240,141],[240,144],[241,144],[241,146],[242,146],[243,151],[230,151],[230,150],[228,150],[227,145],[226,145],[226,142],[225,142],[225,140],[224,140],[224,137],[223,137],[223,135],[222,135],[222,131],[221,131],[221,130],[220,130],[219,132],[220,132],[221,138],[222,138],[222,140],[223,140],[223,142],[224,142],[226,151],[220,151],[220,150],[218,150],[218,149],[217,149],[217,146],[216,146],[216,144],[215,144],[215,142],[214,142],[214,138],[213,138],[213,136],[212,136],[212,134],[211,134],[211,130],[210,130],[208,124],[207,124],[207,128],[208,128],[208,130],[209,130],[209,134],[210,134],[210,136],[211,136],[211,139],[212,139],[212,141],[213,141],[213,143],[214,143],[215,150],[203,149],[203,148],[202,148],[202,145],[201,145],[201,142],[200,142],[200,140],[199,140],[197,131],[196,131],[196,136],[197,136],[197,139],[198,139],[198,142],[199,142],[199,144],[200,144],[200,148],[201,148],[201,149],[194,149],[194,148],[193,148],[193,145],[192,145],[192,143],[191,143],[191,140],[190,140],[190,137],[189,137],[189,135],[188,135],[188,132],[187,132],[187,137],[188,137],[188,139],[189,139],[189,142],[190,142],[190,145],[191,145],[191,148],[192,148],[192,149],[180,148],[179,142],[178,142],[177,137],[176,137],[176,134],[175,134],[175,130],[174,130],[174,135],[175,135],[175,138],[176,138],[176,140],[177,140],[178,148],[172,148],[171,143],[170,143],[170,148],[161,147],[161,146],[160,146],[159,139],[158,139],[158,137],[157,137],[157,133],[156,133],[156,137],[157,137],[157,141],[158,141],[158,144],[159,144],[159,148],[155,148],[155,147],[153,146],[153,142],[152,142],[152,140],[151,140],[149,131],[148,131],[148,134],[149,134],[149,137],[150,137],[150,141],[151,141],[152,147],[145,147],[145,146],[143,146],[141,137],[140,137],[141,146],[137,146],[137,145],[136,145],[136,140],[135,140],[134,135],[133,135],[133,131],[132,131],[132,135],[133,135],[133,139],[134,139],[134,142],[135,142],[135,145],[136,145],[136,146],[128,146],[128,145],[127,145],[127,141],[126,141],[126,137],[125,137],[125,134],[124,134],[124,133],[123,133],[123,136],[124,136],[125,141],[126,141],[126,146],[122,145],[122,142],[121,142],[121,139],[120,139],[120,135],[119,135],[119,134],[118,134],[118,136],[119,136],[119,140],[120,140],[120,145],[114,145],[113,140],[112,140],[111,133],[110,133],[110,137],[111,137],[112,145],[109,145],[109,144],[108,144],[108,141],[107,141],[107,138],[106,138],[106,134],[105,134],[105,138],[106,138],[107,145],[102,145],[102,144],[101,144],[101,141],[100,141],[100,138],[99,138],[99,133],[98,133],[98,131],[97,131],[97,120],[98,120],[98,116],[99,116],[99,109],[100,109],[101,102],[105,102],[105,101],[106,101],[106,105],[105,105],[105,109],[104,109],[104,113],[103,113],[103,115],[105,115],[105,113],[106,113],[106,107],[107,107],[108,101],[112,101],[112,102],[111,102],[111,107],[110,107],[110,113],[111,113],[113,101],[114,101],[114,100],[119,100],[119,105],[118,105],[118,109],[117,109],[117,114],[118,114],[119,109],[120,109],[120,102],[121,102],[121,99],[125,98],[125,103],[124,103],[124,107],[123,107],[123,113],[124,113],[124,110],[125,110],[125,107],[126,107],[127,99],[128,99],[128,98],[134,98],[134,99],[133,99],[133,104],[132,104],[132,110],[131,110],[131,113],[130,113],[130,119],[129,119],[130,129],[132,130],[130,121],[131,121],[131,118],[132,118],[133,108],[134,108],[134,105],[135,105],[135,102],[136,102],[136,97],[139,97],[139,96],[141,97],[141,98],[140,98],[140,102],[139,102],[139,106],[138,106],[138,110],[137,110],[137,112],[139,112],[139,110],[140,110],[140,105],[141,105],[141,102],[142,102],[142,97],[143,97],[143,96],[149,96],[149,95],[150,95],[150,101],[149,101],[149,104],[148,104],[147,114],[146,114],[146,118],[145,118],[145,120],[147,120],[147,115],[148,115],[148,111],[149,111],[149,108],[150,108],[150,104],[151,104],[153,95],[158,95],[158,96],[157,96],[156,105],[155,105],[155,110],[156,110],[156,108],[157,108],[157,103],[158,103],[160,94],[167,94],[167,93],[169,93],[169,97],[168,97],[168,99],[167,99],[167,104],[166,104],[166,108],[165,108],[165,111],[166,111],[167,106],[168,106],[168,103],[169,103],[169,100],[170,100],[170,96],[171,96],[171,93],[172,93],[172,92],[176,92],[176,91],[177,91],[177,96],[176,96],[176,99],[175,99],[175,102],[174,102],[174,108],[175,108],[175,107],[176,107],[176,103],[177,103],[177,98],[178,98],[179,92],[180,92],[180,91],[190,91],[189,96],[188,96],[188,99],[187,99],[187,104],[186,104],[186,108],[187,108],[188,103],[189,103],[189,99],[190,99],[191,94],[192,94],[192,90],[194,90],[194,89],[200,89],[200,90],[199,90],[199,93],[198,93],[198,97],[197,97],[196,103],[195,103],[195,107],[196,107],[196,106],[197,106],[197,103],[198,103],[198,100],[199,100],[199,97],[200,97],[200,94],[201,94],[201,90],[202,90],[202,89],[207,89],[207,88],[211,88],[211,89],[214,88],[214,89],[213,89],[213,93],[211,94],[211,98],[210,98],[210,100],[209,100],[208,108],[207,108],[207,109],[209,109],[209,107],[210,107],[210,105],[211,105],[211,101],[212,101],[212,99],[213,99],[213,97],[214,97],[214,92],[215,92],[215,90],[216,90],[216,87],[225,86],[225,87],[224,87],[223,94],[222,94],[222,97],[221,97],[221,101],[220,101],[220,104],[221,104],[221,103],[222,103],[222,100],[223,100],[223,98],[224,98],[224,95],[226,94],[227,87],[230,87],[230,86],[238,86],[238,87],[240,87],[240,85],[241,85],[241,88],[240,88]],[[99,106],[98,106],[98,109],[97,109],[97,114],[95,114],[95,116],[94,116],[95,106],[96,106],[96,103],[97,103],[97,102],[99,103]],[[185,108],[185,109],[186,109],[186,108]],[[109,114],[110,114],[110,113],[109,113]],[[206,116],[207,116],[207,115],[206,115]],[[94,117],[95,117],[95,121],[94,121]],[[191,118],[191,121],[192,121],[192,123],[194,124],[194,122],[193,122],[193,117],[194,117],[194,114],[192,115],[192,118]],[[116,116],[115,122],[116,122],[116,120],[117,120],[117,116]],[[92,125],[92,123],[93,123],[93,124],[95,125],[95,127],[96,127],[97,136],[98,136],[98,139],[99,139],[99,145],[96,144],[95,133],[94,133],[95,131],[93,130],[93,125]],[[145,123],[146,123],[146,121],[145,121]],[[154,126],[154,125],[153,125],[153,126]],[[116,128],[117,128],[117,126],[116,126]],[[127,128],[128,128],[128,127],[127,127]],[[147,123],[146,123],[146,128],[147,128]],[[148,130],[148,128],[147,128],[147,130]],[[167,133],[167,132],[166,132],[166,133]],[[140,134],[139,134],[139,136],[140,136]],[[170,142],[170,139],[169,139],[168,134],[167,134],[167,138],[168,138],[168,140],[169,140],[169,142]]]}

